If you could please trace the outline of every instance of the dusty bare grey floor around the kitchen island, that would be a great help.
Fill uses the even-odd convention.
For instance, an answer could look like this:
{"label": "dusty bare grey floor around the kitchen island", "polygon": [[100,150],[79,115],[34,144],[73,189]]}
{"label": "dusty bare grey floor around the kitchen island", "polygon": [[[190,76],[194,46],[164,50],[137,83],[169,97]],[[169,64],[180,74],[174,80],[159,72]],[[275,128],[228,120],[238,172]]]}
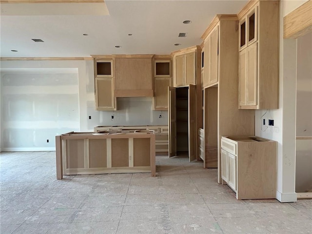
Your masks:
{"label": "dusty bare grey floor around the kitchen island", "polygon": [[312,233],[312,200],[236,200],[215,169],[156,156],[150,174],[65,176],[55,152],[1,152],[1,234]]}

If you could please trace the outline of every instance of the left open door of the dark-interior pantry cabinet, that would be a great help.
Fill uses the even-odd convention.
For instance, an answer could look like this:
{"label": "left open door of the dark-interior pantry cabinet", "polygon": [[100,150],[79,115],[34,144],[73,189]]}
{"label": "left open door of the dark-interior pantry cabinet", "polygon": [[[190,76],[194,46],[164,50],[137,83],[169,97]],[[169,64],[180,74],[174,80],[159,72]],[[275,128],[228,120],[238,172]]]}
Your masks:
{"label": "left open door of the dark-interior pantry cabinet", "polygon": [[176,88],[168,87],[169,157],[176,156]]}

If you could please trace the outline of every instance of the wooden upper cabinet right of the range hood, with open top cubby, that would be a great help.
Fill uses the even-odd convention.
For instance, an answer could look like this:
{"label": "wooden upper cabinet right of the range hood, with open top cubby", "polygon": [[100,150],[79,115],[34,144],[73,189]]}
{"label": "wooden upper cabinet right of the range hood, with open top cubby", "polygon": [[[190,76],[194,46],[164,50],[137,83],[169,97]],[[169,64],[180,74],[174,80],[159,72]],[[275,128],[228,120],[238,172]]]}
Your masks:
{"label": "wooden upper cabinet right of the range hood, with open top cubby", "polygon": [[154,110],[168,110],[168,87],[171,86],[171,56],[154,57]]}

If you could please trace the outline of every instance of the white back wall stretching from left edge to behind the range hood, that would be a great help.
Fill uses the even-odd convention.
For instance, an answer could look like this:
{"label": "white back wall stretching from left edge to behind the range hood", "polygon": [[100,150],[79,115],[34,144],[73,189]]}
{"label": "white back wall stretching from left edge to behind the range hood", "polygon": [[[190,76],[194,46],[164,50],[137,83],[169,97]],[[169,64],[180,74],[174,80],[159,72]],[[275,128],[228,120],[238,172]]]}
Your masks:
{"label": "white back wall stretching from left edge to behind the range hood", "polygon": [[[26,82],[27,76],[23,76],[23,73],[35,74],[38,71],[41,74],[45,74],[46,77],[51,77],[55,79],[55,75],[51,75],[55,72],[64,73],[67,72],[67,76],[65,75],[64,80],[70,79],[72,73],[68,73],[68,71],[76,71],[76,76],[78,75],[77,84],[71,84],[67,86],[62,85],[57,87],[55,83],[51,84],[51,79],[46,79],[38,81],[36,85],[23,85],[21,87],[19,85],[7,85],[4,81],[7,78],[9,73],[11,74],[20,74],[19,76],[11,77],[11,81],[15,80],[24,80]],[[68,128],[63,128],[64,132],[57,132],[58,134],[62,134],[70,131],[81,131],[81,132],[91,132],[95,126],[99,125],[167,125],[168,124],[168,112],[167,111],[153,111],[152,110],[152,98],[117,98],[117,111],[96,111],[95,110],[95,98],[94,98],[94,70],[93,70],[93,61],[92,60],[64,60],[64,61],[1,61],[0,64],[0,97],[1,97],[1,108],[0,108],[0,145],[1,150],[53,150],[55,148],[54,138],[49,144],[46,144],[46,139],[51,139],[54,137],[55,129],[59,127],[58,124],[54,123],[55,121],[63,121],[59,120],[58,117],[54,116],[53,118],[46,115],[48,112],[53,112],[54,104],[50,103],[48,106],[45,106],[43,103],[46,103],[47,100],[37,100],[34,99],[37,97],[35,95],[36,92],[39,92],[43,97],[48,98],[51,93],[53,94],[61,94],[64,95],[63,98],[68,98],[72,95],[78,96],[78,103],[76,101],[71,101],[71,104],[67,102],[65,105],[69,109],[77,110],[78,105],[78,116],[72,115],[68,119],[64,120],[61,126],[66,125]],[[34,76],[34,75],[33,75]],[[63,76],[63,75],[62,75]],[[44,76],[43,76],[44,78]],[[32,78],[30,78],[31,80]],[[13,81],[12,81],[13,82]],[[50,83],[49,83],[50,82]],[[27,87],[26,87],[27,86]],[[36,87],[40,86],[40,91],[36,91]],[[4,89],[7,91],[4,91]],[[26,90],[25,90],[25,89]],[[45,90],[44,90],[45,89]],[[13,111],[15,117],[8,116],[7,112],[7,102],[12,98],[10,96],[10,91],[14,92],[15,99],[17,103],[16,108]],[[50,94],[49,94],[50,93]],[[23,100],[18,100],[18,98],[23,99],[23,95],[28,95],[31,101],[28,101],[29,104],[34,103],[35,107],[31,106],[31,110],[26,108],[26,110],[22,110]],[[51,96],[50,96],[51,97]],[[61,97],[59,97],[61,98]],[[14,99],[14,98],[13,98]],[[27,99],[27,98],[26,98]],[[54,99],[57,99],[54,96]],[[75,98],[74,98],[75,99]],[[6,104],[5,104],[6,103]],[[38,103],[38,104],[37,104]],[[21,111],[17,111],[20,110]],[[34,117],[33,110],[36,110],[36,113],[41,113],[40,119],[32,120]],[[74,112],[75,112],[74,111]],[[66,111],[65,111],[66,112]],[[19,115],[19,114],[22,115]],[[67,112],[67,116],[68,116]],[[73,113],[72,113],[73,114]],[[159,118],[161,114],[162,118]],[[36,114],[38,116],[38,114]],[[53,115],[53,113],[51,113]],[[114,119],[111,120],[111,116],[114,115]],[[91,116],[91,119],[89,119]],[[5,117],[5,118],[4,118]],[[17,119],[14,119],[17,118]],[[23,119],[28,118],[23,121]],[[77,121],[78,118],[78,121]],[[39,121],[39,122],[38,122]],[[53,122],[54,121],[54,122]],[[31,123],[31,124],[29,124]],[[34,136],[32,135],[32,140],[25,140],[25,136],[29,136],[29,129],[32,129],[32,133],[34,133],[34,129],[37,129],[44,133],[46,129],[44,125],[51,125],[53,123],[53,131],[50,132],[50,135],[47,136],[45,134],[37,135],[35,142],[39,141],[40,144],[34,144]],[[59,122],[60,123],[60,122]],[[18,125],[18,126],[17,126]],[[23,127],[26,126],[27,127]],[[51,126],[50,126],[51,127]],[[12,134],[8,134],[7,130],[10,129],[11,132],[17,133],[13,134],[15,137],[12,138]],[[13,130],[14,129],[14,130]],[[61,129],[61,128],[60,128]],[[19,132],[15,131],[19,130]],[[28,133],[27,133],[28,132]],[[27,135],[28,134],[28,135]],[[53,135],[53,136],[52,136]],[[9,139],[11,136],[11,139]],[[49,137],[49,138],[47,138]],[[28,142],[28,143],[27,143]],[[8,144],[9,143],[9,144]],[[41,144],[42,143],[42,144]],[[9,148],[9,149],[8,149]]]}

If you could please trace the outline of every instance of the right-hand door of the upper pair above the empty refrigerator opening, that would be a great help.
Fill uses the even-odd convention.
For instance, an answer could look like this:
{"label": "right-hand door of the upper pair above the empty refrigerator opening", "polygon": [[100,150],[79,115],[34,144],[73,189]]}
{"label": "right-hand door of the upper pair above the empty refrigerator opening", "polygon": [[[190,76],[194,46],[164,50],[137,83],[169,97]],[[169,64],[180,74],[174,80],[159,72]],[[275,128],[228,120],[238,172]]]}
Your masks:
{"label": "right-hand door of the upper pair above the empty refrigerator opening", "polygon": [[210,76],[209,84],[218,81],[219,77],[219,26],[216,26],[210,35]]}

